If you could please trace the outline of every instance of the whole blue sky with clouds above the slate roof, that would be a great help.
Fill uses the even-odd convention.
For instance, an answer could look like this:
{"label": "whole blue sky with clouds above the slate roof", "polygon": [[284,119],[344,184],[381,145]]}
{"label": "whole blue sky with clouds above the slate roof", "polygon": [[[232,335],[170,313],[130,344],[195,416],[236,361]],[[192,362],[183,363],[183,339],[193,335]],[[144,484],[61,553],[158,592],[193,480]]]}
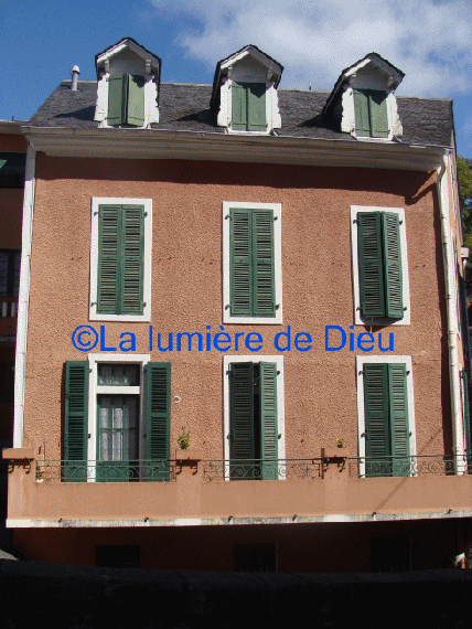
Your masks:
{"label": "whole blue sky with clouds above the slate roof", "polygon": [[281,87],[331,89],[375,51],[406,73],[398,95],[453,98],[458,152],[472,158],[470,0],[0,0],[0,118],[28,120],[77,64],[131,36],[163,82],[212,83],[245,44],[283,66]]}

